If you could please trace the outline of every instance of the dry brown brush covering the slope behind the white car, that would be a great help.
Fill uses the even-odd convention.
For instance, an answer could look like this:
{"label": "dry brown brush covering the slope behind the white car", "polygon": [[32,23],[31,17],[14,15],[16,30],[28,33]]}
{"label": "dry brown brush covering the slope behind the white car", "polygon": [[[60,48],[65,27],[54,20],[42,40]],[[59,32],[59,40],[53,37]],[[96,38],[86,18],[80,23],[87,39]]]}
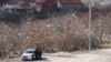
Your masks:
{"label": "dry brown brush covering the slope behind the white car", "polygon": [[[81,17],[80,17],[81,16]],[[111,34],[111,13],[93,10],[92,49],[99,48]],[[89,43],[88,13],[67,13],[20,24],[0,22],[0,58],[17,54],[27,48],[40,46],[44,52],[87,50]]]}

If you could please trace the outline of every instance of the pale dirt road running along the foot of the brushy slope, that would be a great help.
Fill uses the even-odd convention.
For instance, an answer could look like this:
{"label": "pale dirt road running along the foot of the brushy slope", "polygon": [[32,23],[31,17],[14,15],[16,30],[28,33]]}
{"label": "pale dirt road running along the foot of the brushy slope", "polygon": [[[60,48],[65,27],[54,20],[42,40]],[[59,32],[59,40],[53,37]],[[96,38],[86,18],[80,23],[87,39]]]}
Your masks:
{"label": "pale dirt road running along the foot of the brushy slope", "polygon": [[[58,52],[44,53],[43,61],[23,61],[23,62],[111,62],[111,49],[101,49],[85,52]],[[0,60],[0,62],[22,62],[20,58]]]}

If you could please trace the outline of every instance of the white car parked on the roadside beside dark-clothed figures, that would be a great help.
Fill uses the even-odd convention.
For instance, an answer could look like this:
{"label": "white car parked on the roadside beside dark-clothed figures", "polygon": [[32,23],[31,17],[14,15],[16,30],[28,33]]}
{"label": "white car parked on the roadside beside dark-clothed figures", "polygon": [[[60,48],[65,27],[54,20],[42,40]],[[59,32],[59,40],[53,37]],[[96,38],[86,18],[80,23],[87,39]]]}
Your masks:
{"label": "white car parked on the roadside beside dark-clothed figures", "polygon": [[37,49],[28,49],[26,50],[21,58],[22,60],[36,60],[37,59],[37,53],[36,53]]}

